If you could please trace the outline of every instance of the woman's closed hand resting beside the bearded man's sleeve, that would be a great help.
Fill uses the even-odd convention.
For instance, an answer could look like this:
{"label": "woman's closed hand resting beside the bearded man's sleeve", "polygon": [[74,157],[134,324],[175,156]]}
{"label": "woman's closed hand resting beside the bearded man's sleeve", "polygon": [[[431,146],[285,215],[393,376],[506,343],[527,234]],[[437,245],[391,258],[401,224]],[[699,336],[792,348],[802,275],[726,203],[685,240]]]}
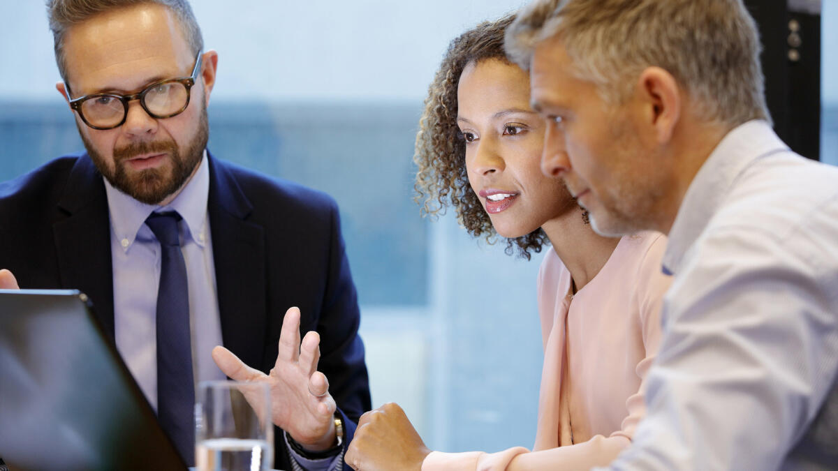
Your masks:
{"label": "woman's closed hand resting beside the bearded man's sleeve", "polygon": [[431,450],[395,402],[365,412],[346,452],[346,463],[356,471],[422,469]]}

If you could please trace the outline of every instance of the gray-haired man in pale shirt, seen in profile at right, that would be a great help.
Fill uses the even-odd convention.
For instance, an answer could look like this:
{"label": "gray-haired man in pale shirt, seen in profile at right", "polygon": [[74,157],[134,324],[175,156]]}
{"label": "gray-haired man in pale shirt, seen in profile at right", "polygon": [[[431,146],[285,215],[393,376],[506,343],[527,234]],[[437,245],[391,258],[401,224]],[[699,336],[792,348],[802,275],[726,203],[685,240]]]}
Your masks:
{"label": "gray-haired man in pale shirt, seen in profile at right", "polygon": [[741,0],[538,0],[506,47],[542,170],[597,232],[669,235],[648,415],[611,468],[834,469],[838,169],[772,131]]}

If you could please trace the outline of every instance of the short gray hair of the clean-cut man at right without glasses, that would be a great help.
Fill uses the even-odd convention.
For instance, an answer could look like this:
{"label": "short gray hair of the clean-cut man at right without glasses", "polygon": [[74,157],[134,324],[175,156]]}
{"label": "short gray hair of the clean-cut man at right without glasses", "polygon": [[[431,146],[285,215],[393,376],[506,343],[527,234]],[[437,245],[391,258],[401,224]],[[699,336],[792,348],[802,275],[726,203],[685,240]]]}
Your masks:
{"label": "short gray hair of the clean-cut man at right without glasses", "polygon": [[701,119],[733,127],[770,121],[757,26],[742,0],[535,0],[507,29],[510,60],[529,69],[546,39],[566,49],[580,79],[622,102],[658,66],[696,102]]}

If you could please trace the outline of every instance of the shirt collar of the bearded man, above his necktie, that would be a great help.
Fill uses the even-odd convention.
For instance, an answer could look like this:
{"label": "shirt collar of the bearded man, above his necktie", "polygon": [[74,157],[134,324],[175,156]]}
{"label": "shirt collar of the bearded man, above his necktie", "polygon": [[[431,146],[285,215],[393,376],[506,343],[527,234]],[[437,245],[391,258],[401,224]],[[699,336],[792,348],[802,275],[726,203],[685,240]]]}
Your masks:
{"label": "shirt collar of the bearded man, above his necktie", "polygon": [[204,246],[207,240],[207,199],[209,198],[209,164],[206,150],[199,163],[198,171],[178,196],[166,206],[141,203],[114,188],[107,179],[105,179],[105,191],[111,214],[111,228],[123,251],[128,251],[133,245],[148,215],[154,211],[167,210],[178,211],[180,217],[184,219],[188,229],[187,234],[184,234],[184,239],[190,237],[199,246]]}

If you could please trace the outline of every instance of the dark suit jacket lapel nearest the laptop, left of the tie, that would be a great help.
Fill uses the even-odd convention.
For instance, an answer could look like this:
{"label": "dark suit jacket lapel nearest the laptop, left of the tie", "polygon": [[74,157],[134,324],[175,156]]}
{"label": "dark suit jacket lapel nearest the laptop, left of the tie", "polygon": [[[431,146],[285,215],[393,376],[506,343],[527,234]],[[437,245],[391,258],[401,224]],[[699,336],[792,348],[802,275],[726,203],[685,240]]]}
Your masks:
{"label": "dark suit jacket lapel nearest the laptop, left of the tie", "polygon": [[86,153],[70,170],[58,206],[66,214],[53,224],[61,286],[87,294],[96,318],[113,339],[110,216],[105,184]]}

